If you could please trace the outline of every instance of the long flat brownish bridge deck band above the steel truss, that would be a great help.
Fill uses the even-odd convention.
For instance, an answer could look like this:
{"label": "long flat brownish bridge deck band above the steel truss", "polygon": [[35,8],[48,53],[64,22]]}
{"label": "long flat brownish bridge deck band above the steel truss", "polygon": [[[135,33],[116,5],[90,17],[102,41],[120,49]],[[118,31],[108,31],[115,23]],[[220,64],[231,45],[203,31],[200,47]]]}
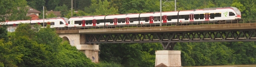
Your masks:
{"label": "long flat brownish bridge deck band above the steel truss", "polygon": [[155,26],[155,27],[131,27],[113,29],[76,29],[57,30],[57,34],[111,34],[111,33],[146,33],[146,32],[170,32],[170,31],[200,31],[200,30],[232,30],[232,29],[256,29],[256,23],[233,23],[215,25],[183,25],[183,26]]}

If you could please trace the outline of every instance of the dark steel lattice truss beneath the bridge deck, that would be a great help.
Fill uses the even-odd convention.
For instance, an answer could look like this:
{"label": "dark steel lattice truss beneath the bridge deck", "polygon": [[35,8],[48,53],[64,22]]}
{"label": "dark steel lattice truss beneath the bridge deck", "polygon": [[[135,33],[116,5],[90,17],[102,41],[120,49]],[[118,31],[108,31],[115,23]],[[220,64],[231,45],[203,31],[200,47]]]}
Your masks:
{"label": "dark steel lattice truss beneath the bridge deck", "polygon": [[164,50],[173,50],[177,42],[249,42],[256,41],[256,29],[205,30],[179,32],[145,32],[116,34],[85,34],[90,43],[160,42]]}

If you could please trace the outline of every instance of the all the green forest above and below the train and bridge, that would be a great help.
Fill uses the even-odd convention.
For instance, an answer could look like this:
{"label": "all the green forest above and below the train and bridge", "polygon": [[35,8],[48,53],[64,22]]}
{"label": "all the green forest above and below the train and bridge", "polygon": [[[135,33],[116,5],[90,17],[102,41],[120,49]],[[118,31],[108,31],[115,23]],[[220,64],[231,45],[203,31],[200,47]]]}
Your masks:
{"label": "all the green forest above and below the train and bridge", "polygon": [[[174,0],[162,1],[163,12],[175,10]],[[159,0],[73,0],[73,11],[78,11],[73,17],[159,12],[159,3]],[[71,0],[0,0],[0,22],[30,19],[26,17],[27,10],[18,10],[17,6],[30,6],[41,12],[45,6],[45,11],[61,11],[62,17],[71,17]],[[230,6],[238,8],[243,19],[256,17],[255,0],[177,0],[177,11]],[[56,16],[45,16],[51,17]],[[92,63],[75,47],[63,42],[54,29],[32,29],[28,25],[18,25],[14,33],[0,27],[0,67],[154,67],[155,50],[163,50],[160,43],[101,44],[100,63]],[[182,66],[256,64],[256,42],[178,42],[174,50],[181,50]]]}

